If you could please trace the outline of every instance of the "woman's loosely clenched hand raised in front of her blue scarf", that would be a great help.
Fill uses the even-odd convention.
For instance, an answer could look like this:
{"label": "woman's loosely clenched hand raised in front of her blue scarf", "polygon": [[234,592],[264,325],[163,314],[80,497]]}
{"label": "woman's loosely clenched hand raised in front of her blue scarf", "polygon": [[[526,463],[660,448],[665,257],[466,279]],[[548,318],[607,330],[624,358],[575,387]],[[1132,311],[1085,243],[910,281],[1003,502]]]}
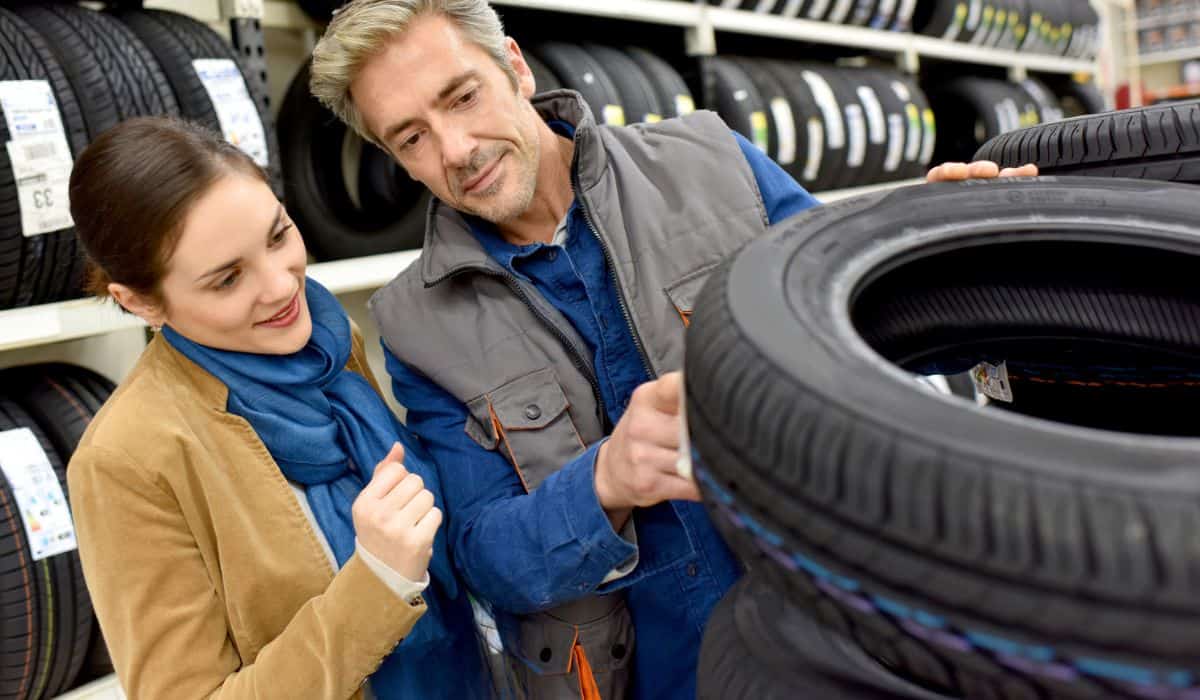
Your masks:
{"label": "woman's loosely clenched hand raised in front of her blue scarf", "polygon": [[376,466],[371,483],[354,499],[352,515],[359,545],[409,581],[425,580],[442,511],[433,493],[402,463],[400,443]]}

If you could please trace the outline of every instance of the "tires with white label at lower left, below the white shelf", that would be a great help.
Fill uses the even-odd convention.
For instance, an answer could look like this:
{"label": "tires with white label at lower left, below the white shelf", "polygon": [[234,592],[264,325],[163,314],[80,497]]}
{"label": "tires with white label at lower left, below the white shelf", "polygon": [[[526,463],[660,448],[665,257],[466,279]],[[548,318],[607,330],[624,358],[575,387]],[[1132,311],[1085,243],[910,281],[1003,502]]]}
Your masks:
{"label": "tires with white label at lower left, below the white shelf", "polygon": [[[70,502],[66,465],[79,438],[113,391],[108,379],[71,365],[35,365],[0,372],[0,436],[30,431]],[[0,441],[0,450],[4,450]],[[0,465],[18,473],[24,454],[0,451]],[[22,485],[29,489],[28,484]],[[0,474],[0,695],[54,698],[79,681],[112,672],[91,598],[73,549],[34,560],[46,543],[38,504],[19,508],[13,481]],[[58,505],[58,504],[55,504]],[[30,525],[26,525],[26,521]]]}

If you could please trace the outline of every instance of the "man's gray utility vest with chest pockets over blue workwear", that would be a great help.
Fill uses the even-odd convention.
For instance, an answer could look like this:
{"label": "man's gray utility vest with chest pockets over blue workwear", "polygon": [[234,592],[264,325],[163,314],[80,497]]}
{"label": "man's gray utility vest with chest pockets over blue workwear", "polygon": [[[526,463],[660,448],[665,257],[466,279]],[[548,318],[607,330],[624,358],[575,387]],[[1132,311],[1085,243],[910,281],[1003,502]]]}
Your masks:
{"label": "man's gray utility vest with chest pockets over blue workwear", "polygon": [[[598,126],[568,90],[534,107],[576,125],[575,196],[604,244],[649,373],[680,369],[683,330],[708,273],[767,229],[728,126],[710,112]],[[578,333],[488,257],[449,207],[433,201],[419,262],[370,307],[388,348],[468,407],[463,430],[503,454],[527,490],[611,431]],[[634,638],[622,598],[593,596],[522,622],[521,648],[506,651],[521,659],[514,668],[528,696],[578,696],[574,671],[565,672],[576,628],[601,695],[625,696]]]}

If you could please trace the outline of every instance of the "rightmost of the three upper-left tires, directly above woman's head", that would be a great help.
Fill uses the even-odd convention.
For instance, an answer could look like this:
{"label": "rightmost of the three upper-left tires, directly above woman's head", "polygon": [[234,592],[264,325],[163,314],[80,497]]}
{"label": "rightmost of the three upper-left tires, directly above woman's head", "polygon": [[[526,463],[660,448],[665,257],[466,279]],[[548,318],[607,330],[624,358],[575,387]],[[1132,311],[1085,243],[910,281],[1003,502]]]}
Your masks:
{"label": "rightmost of the three upper-left tires, directly above woman's head", "polygon": [[246,83],[246,91],[254,102],[259,121],[263,125],[263,136],[266,139],[268,163],[263,169],[270,179],[275,195],[282,198],[283,175],[280,166],[280,145],[275,134],[275,121],[266,109],[264,96],[259,94],[258,82],[248,79],[241,58],[233,50],[233,47],[203,22],[176,12],[126,10],[118,12],[116,17],[133,30],[133,34],[145,43],[158,61],[158,66],[167,76],[172,91],[175,94],[180,113],[217,133],[222,133],[221,120],[217,119],[212,100],[209,97],[204,83],[196,74],[192,61],[196,59],[227,59],[238,66]]}

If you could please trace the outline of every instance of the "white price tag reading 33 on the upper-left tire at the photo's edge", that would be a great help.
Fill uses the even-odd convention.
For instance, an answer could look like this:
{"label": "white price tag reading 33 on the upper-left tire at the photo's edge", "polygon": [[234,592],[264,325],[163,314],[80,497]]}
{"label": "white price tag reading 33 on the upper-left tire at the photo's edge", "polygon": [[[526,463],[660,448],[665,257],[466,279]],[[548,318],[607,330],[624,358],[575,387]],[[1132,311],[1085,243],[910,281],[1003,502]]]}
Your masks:
{"label": "white price tag reading 33 on the upper-left tire at the photo's edge", "polygon": [[0,82],[0,109],[8,125],[5,146],[12,162],[25,237],[71,228],[71,146],[47,80]]}

